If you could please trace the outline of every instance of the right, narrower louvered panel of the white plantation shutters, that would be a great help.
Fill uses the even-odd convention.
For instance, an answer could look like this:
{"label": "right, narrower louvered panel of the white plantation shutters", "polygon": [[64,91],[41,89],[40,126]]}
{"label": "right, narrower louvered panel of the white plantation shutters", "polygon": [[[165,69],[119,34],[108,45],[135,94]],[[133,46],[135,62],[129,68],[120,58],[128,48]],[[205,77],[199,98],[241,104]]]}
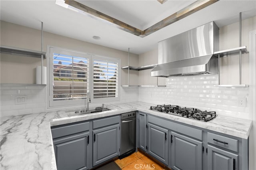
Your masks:
{"label": "right, narrower louvered panel of the white plantation shutters", "polygon": [[93,59],[93,98],[118,98],[118,61]]}

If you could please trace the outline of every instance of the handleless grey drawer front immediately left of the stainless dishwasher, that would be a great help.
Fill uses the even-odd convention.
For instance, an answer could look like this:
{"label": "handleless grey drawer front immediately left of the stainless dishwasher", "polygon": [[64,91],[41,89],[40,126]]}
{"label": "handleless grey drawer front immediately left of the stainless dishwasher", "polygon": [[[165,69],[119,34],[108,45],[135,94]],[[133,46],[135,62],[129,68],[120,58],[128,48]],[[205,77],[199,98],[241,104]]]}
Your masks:
{"label": "handleless grey drawer front immediately left of the stainless dishwasher", "polygon": [[92,121],[92,128],[100,128],[108,125],[114,125],[120,122],[120,116],[108,117]]}

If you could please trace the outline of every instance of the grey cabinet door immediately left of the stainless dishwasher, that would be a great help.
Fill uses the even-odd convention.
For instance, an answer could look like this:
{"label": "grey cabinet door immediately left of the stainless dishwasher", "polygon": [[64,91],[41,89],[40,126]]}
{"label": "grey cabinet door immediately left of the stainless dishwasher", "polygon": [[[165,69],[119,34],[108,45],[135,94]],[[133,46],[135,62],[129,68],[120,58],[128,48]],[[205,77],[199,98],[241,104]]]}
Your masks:
{"label": "grey cabinet door immediately left of the stainless dishwasher", "polygon": [[93,130],[93,135],[93,166],[119,155],[119,124]]}

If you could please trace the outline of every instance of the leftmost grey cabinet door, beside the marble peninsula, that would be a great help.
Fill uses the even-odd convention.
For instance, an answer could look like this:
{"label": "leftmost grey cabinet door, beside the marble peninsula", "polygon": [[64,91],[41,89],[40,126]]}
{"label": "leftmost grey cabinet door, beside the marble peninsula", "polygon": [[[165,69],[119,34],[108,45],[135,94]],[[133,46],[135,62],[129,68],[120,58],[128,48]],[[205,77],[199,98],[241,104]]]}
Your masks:
{"label": "leftmost grey cabinet door, beside the marble peninsula", "polygon": [[89,169],[89,132],[53,140],[58,170]]}

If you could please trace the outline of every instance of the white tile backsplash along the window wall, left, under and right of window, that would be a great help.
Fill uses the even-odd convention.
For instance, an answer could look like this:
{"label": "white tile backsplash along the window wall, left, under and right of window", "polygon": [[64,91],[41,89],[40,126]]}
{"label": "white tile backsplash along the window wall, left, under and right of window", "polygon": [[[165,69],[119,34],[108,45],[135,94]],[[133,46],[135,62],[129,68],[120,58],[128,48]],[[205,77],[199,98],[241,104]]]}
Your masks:
{"label": "white tile backsplash along the window wall, left, under and right of window", "polygon": [[[75,106],[46,109],[46,90],[47,88],[45,86],[1,86],[1,117],[85,107]],[[138,101],[138,87],[124,87],[121,88],[120,91],[122,95],[122,103]],[[25,97],[26,101],[19,104],[19,102],[16,101],[16,98],[22,97]],[[101,104],[90,104],[90,108],[99,106],[101,106]]]}

